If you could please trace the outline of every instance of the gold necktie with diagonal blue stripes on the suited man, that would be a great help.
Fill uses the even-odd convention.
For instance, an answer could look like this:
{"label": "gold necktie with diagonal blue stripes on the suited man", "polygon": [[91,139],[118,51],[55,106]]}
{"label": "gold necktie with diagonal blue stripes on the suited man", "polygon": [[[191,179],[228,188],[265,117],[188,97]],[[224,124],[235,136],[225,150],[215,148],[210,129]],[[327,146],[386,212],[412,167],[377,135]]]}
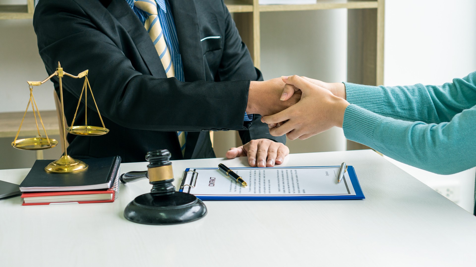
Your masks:
{"label": "gold necktie with diagonal blue stripes on the suited man", "polygon": [[[167,78],[175,77],[174,64],[172,57],[170,57],[170,51],[165,42],[164,32],[160,26],[159,11],[157,10],[157,3],[155,0],[137,0],[134,1],[134,6],[140,10],[149,14],[149,17],[144,23],[144,27],[149,32],[150,39],[152,40],[157,53],[159,54],[160,61],[164,67]],[[185,155],[185,132],[177,132],[178,143],[180,143],[180,150],[182,156]]]}

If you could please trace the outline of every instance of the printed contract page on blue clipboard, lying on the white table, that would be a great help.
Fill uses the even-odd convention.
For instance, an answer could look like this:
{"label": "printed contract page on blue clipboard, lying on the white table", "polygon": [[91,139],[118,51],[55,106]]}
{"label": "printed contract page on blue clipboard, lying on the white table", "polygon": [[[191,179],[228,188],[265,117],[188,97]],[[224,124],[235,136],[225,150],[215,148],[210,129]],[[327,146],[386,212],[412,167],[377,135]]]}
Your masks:
{"label": "printed contract page on blue clipboard, lying on the white table", "polygon": [[364,199],[353,166],[337,183],[340,166],[230,168],[242,186],[218,168],[188,168],[180,191],[201,200],[333,200]]}

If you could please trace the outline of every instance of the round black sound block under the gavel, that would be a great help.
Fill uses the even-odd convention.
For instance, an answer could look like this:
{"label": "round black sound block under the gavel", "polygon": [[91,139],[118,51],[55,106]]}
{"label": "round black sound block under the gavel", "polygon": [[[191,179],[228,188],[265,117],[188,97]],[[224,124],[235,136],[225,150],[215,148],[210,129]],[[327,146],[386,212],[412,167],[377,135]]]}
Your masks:
{"label": "round black sound block under the gavel", "polygon": [[132,200],[124,210],[124,217],[130,221],[168,225],[198,220],[207,214],[202,200],[184,192],[154,196],[143,194]]}

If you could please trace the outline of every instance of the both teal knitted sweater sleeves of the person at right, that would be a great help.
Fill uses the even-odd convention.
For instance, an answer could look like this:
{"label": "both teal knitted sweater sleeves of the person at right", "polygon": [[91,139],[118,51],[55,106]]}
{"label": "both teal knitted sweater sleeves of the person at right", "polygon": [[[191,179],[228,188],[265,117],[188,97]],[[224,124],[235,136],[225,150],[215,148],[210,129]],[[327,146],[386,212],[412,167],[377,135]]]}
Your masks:
{"label": "both teal knitted sweater sleeves of the person at right", "polygon": [[467,170],[476,166],[475,82],[472,73],[444,86],[346,84],[344,134],[430,172]]}

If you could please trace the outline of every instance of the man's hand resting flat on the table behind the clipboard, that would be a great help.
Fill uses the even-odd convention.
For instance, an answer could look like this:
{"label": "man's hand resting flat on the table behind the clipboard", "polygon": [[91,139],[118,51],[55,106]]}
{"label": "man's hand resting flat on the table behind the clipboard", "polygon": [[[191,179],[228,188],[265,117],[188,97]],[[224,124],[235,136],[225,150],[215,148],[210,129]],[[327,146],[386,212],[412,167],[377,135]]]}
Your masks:
{"label": "man's hand resting flat on the table behind the clipboard", "polygon": [[255,139],[240,146],[232,147],[227,152],[228,159],[248,156],[251,167],[274,167],[281,164],[284,157],[289,154],[289,148],[283,143],[274,142],[266,138]]}

